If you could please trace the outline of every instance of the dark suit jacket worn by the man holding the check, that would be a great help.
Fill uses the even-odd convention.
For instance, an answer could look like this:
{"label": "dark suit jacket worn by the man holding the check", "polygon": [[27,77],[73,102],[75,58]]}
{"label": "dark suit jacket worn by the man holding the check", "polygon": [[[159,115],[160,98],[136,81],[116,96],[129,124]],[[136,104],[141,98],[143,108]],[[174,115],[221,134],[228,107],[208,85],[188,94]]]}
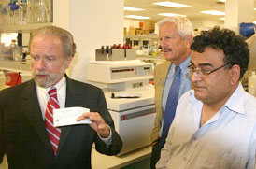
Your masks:
{"label": "dark suit jacket worn by the man holding the check", "polygon": [[0,92],[0,157],[7,154],[10,169],[91,168],[93,143],[101,153],[115,155],[120,152],[121,138],[114,130],[100,89],[66,77],[65,107],[71,106],[99,112],[111,128],[112,146],[107,148],[89,125],[65,126],[54,156],[34,80]]}

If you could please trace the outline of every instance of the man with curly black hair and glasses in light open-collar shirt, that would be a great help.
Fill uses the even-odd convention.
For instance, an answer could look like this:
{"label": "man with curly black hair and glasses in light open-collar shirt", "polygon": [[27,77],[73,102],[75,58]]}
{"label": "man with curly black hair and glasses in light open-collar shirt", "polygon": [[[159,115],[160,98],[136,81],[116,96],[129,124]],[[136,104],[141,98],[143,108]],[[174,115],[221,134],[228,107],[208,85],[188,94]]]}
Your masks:
{"label": "man with curly black hair and glasses in light open-collar shirt", "polygon": [[178,101],[156,168],[254,169],[256,98],[240,79],[248,68],[244,39],[214,28],[194,37],[193,90]]}

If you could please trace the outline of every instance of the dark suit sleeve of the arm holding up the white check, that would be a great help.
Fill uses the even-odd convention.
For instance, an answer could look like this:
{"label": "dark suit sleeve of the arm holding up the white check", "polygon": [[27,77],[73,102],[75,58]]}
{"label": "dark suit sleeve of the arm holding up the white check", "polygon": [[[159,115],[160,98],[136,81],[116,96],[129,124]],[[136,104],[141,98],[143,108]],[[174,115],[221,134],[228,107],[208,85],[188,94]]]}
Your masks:
{"label": "dark suit sleeve of the arm holding up the white check", "polygon": [[107,145],[97,135],[95,140],[95,148],[100,153],[106,155],[116,155],[121,151],[122,141],[120,135],[115,131],[114,121],[107,110],[106,99],[101,90],[98,97],[98,112],[111,129],[112,145],[107,147]]}

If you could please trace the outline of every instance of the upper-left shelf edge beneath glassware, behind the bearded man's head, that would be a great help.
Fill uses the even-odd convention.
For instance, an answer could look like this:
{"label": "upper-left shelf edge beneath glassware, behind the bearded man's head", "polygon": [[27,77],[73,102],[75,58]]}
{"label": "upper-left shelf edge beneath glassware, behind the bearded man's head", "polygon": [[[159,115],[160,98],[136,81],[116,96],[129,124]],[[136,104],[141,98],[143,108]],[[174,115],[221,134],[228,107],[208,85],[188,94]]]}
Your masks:
{"label": "upper-left shelf edge beneath glassware, behind the bearded man's head", "polygon": [[35,24],[24,24],[24,25],[1,25],[0,32],[2,33],[30,33],[32,30],[35,30],[42,26],[50,26],[50,23],[35,23]]}

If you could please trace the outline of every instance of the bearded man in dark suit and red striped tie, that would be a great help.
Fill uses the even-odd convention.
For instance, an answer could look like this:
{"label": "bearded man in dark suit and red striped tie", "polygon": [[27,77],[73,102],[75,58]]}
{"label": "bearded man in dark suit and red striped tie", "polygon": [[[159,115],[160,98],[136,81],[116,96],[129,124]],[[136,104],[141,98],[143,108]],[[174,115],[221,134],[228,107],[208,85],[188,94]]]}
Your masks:
{"label": "bearded man in dark suit and red striped tie", "polygon": [[[72,35],[55,26],[39,28],[29,48],[33,79],[0,92],[0,157],[7,155],[9,168],[91,168],[93,143],[100,153],[118,154],[122,142],[103,92],[64,75],[76,52]],[[46,127],[51,89],[60,108],[89,108],[77,120],[92,124],[55,128],[60,137],[51,132],[52,126]]]}

